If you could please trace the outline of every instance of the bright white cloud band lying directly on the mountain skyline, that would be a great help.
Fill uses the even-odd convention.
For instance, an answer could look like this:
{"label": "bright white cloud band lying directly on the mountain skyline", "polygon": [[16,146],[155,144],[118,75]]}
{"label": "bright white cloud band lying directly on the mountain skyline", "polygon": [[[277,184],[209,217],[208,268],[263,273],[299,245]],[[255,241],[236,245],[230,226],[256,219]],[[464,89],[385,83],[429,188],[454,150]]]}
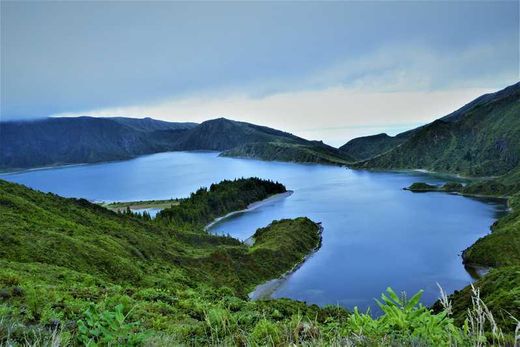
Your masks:
{"label": "bright white cloud band lying directly on the mountain skyline", "polygon": [[202,122],[227,117],[341,145],[377,132],[396,133],[444,116],[489,89],[371,92],[346,87],[251,97],[193,96],[156,104],[115,107],[60,116],[130,116]]}

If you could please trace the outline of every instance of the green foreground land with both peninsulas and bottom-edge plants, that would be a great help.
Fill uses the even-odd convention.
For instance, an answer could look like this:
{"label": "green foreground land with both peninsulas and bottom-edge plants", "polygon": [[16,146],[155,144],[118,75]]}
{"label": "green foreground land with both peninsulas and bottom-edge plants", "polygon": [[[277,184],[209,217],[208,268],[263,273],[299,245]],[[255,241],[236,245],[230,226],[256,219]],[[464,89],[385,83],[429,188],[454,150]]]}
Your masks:
{"label": "green foreground land with both peninsulas and bottom-edge plants", "polygon": [[[379,318],[286,299],[249,301],[256,285],[319,247],[319,225],[305,217],[275,221],[257,230],[252,246],[200,226],[280,191],[283,185],[260,179],[224,181],[147,220],[0,181],[0,343],[513,343],[511,324],[503,334],[478,293],[470,293],[464,319],[458,310],[451,316],[446,298],[434,313],[419,303],[421,293],[407,298],[391,289],[381,297]],[[237,200],[238,192],[244,195]],[[192,209],[198,212],[187,214]]]}

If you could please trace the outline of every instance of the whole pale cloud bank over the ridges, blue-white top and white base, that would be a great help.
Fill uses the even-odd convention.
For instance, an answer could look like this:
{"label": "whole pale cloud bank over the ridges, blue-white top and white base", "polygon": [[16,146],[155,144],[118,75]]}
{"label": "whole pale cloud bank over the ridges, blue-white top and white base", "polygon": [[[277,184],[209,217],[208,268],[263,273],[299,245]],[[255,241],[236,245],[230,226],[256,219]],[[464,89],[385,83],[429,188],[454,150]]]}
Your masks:
{"label": "whole pale cloud bank over the ridges, blue-white top and white base", "polygon": [[[411,129],[515,83],[515,64],[494,69],[495,62],[517,61],[515,54],[507,40],[446,54],[422,45],[394,45],[292,79],[60,115],[195,122],[224,116],[341,145],[357,136]],[[480,74],[473,73],[474,66],[480,66]]]}

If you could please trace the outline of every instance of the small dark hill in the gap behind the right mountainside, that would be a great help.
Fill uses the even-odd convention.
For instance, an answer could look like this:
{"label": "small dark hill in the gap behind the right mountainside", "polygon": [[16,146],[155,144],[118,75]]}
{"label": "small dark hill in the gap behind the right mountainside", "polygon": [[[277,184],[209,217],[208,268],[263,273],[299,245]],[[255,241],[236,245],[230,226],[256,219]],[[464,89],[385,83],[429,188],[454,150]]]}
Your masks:
{"label": "small dark hill in the gap behind the right mountainside", "polygon": [[408,137],[408,133],[403,133],[393,137],[388,136],[387,134],[358,137],[350,140],[339,149],[356,160],[365,160],[399,146],[401,143],[406,141]]}

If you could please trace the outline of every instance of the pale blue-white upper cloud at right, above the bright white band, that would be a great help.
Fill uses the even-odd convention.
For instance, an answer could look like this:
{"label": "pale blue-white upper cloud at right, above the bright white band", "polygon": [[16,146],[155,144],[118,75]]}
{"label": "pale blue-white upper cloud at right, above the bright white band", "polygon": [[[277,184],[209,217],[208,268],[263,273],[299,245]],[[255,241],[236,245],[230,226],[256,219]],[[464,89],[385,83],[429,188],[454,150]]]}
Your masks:
{"label": "pale blue-white upper cloud at right, above the bright white band", "polygon": [[425,44],[394,44],[313,73],[307,86],[340,84],[369,91],[501,88],[520,75],[518,35],[443,51]]}

